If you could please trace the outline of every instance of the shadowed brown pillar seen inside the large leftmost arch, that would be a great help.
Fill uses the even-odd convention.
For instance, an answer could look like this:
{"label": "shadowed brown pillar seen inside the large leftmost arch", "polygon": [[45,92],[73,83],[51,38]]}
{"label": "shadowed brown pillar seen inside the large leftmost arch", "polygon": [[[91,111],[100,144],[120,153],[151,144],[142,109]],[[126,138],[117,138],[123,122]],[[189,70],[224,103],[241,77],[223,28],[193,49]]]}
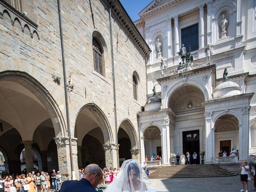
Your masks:
{"label": "shadowed brown pillar seen inside the large leftmost arch", "polygon": [[33,141],[22,141],[25,148],[25,158],[26,158],[26,169],[27,173],[32,172],[34,170],[34,160],[32,156],[32,143]]}

